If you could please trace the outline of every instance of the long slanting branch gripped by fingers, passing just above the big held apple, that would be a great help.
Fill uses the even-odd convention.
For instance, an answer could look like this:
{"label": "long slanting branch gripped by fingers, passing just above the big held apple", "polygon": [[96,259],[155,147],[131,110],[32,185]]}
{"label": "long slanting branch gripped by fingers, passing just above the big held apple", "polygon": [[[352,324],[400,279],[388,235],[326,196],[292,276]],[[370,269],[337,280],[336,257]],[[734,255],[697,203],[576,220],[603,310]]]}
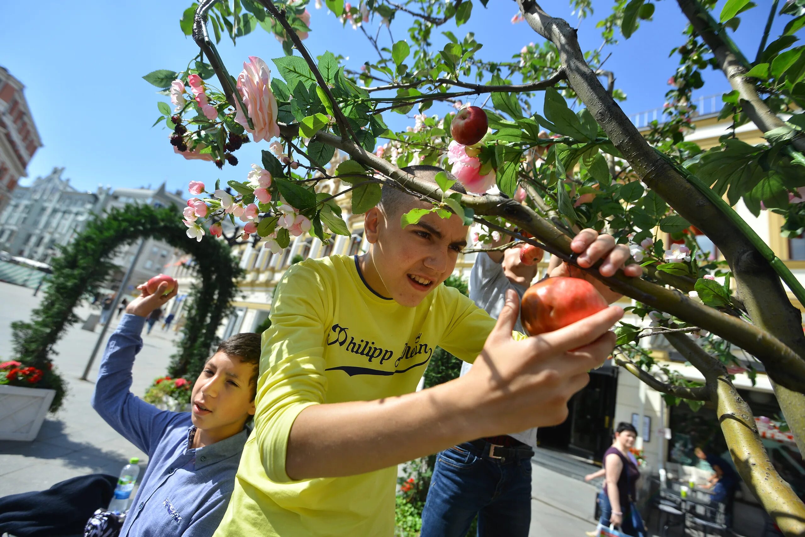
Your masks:
{"label": "long slanting branch gripped by fingers, passing just above the big held apple", "polygon": [[[343,141],[333,134],[319,132],[314,138],[321,143],[326,143],[345,151],[353,159],[360,163],[380,171],[387,177],[396,181],[398,184],[413,192],[419,192],[423,196],[430,197],[436,202],[440,197],[435,196],[433,184],[416,179],[400,170],[387,160],[380,159],[376,155],[365,151],[362,147],[348,141]],[[534,244],[551,254],[571,262],[576,265],[576,254],[570,248],[571,239],[551,224],[550,221],[540,217],[532,209],[518,203],[515,200],[502,196],[462,196],[461,203],[475,211],[477,215],[504,217],[506,220],[525,229],[528,233],[538,238],[543,245],[525,238],[518,233],[512,233],[508,229],[486,222],[485,225],[493,229],[501,230],[515,238]],[[630,298],[639,300],[652,308],[663,312],[671,313],[690,324],[700,326],[720,337],[732,341],[734,344],[745,349],[749,353],[763,361],[770,376],[774,377],[780,384],[790,387],[791,390],[805,392],[805,361],[797,353],[786,347],[776,337],[766,333],[752,324],[721,313],[714,308],[709,308],[687,296],[672,291],[665,287],[650,283],[645,279],[629,278],[622,273],[618,273],[611,278],[605,278],[598,272],[597,267],[592,266],[582,269],[597,279],[605,282],[613,291],[617,291]]]}

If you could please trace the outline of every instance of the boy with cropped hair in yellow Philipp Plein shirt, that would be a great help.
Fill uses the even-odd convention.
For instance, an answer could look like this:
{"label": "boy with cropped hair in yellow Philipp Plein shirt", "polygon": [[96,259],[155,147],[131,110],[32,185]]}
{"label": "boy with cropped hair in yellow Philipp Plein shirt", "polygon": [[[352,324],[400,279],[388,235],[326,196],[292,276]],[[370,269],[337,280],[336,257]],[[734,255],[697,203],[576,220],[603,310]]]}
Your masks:
{"label": "boy with cropped hair in yellow Philipp Plein shirt", "polygon": [[[442,171],[404,170],[431,182]],[[468,229],[434,213],[401,227],[403,213],[429,206],[384,187],[365,214],[367,253],[299,262],[279,283],[262,337],[254,432],[216,537],[393,535],[399,463],[561,423],[587,371],[609,356],[621,308],[526,338],[512,333],[516,293],[496,324],[441,285]],[[641,273],[624,266],[625,246],[592,229],[572,249],[581,266],[605,259],[602,275]],[[474,366],[416,392],[436,345]]]}

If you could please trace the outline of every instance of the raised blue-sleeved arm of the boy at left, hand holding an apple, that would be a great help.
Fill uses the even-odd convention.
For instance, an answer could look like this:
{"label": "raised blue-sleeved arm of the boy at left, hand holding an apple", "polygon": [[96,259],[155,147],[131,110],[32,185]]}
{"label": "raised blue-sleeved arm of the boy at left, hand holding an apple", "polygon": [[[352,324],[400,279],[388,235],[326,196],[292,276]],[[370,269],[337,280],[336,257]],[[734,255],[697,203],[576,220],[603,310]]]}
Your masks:
{"label": "raised blue-sleeved arm of the boy at left, hand holding an apple", "polygon": [[[167,286],[164,283],[163,285]],[[159,295],[159,291],[155,295]],[[151,301],[147,304],[151,302],[164,304],[175,295],[175,290],[167,296],[155,295],[151,296]],[[154,308],[156,307],[158,306]],[[130,392],[131,369],[134,366],[134,357],[142,349],[140,334],[146,316],[147,313],[142,315],[141,299],[134,299],[127,306],[126,314],[106,344],[101,368],[95,381],[92,405],[101,418],[115,431],[125,436],[126,440],[141,451],[151,453],[152,444],[159,440],[157,433],[163,430],[175,412],[160,411]]]}

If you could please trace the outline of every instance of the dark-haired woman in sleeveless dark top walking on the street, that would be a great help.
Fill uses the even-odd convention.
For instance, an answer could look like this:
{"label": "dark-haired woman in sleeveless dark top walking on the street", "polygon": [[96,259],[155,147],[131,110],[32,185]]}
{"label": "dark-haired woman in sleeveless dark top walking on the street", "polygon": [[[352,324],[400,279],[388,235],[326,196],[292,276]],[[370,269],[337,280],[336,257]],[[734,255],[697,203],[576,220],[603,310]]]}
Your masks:
{"label": "dark-haired woman in sleeveless dark top walking on the street", "polygon": [[634,505],[640,471],[628,456],[637,437],[638,431],[631,423],[617,424],[615,441],[604,453],[606,482],[604,494],[601,494],[599,523],[605,527],[620,527],[626,535],[645,537],[646,527]]}

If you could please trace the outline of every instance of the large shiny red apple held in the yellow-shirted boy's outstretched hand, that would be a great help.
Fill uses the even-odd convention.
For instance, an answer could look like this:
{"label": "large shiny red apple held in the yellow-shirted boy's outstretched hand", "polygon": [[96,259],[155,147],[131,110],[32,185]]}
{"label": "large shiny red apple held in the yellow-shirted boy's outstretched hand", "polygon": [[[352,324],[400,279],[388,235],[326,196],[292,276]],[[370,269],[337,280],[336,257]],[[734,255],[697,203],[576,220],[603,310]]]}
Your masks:
{"label": "large shiny red apple held in the yellow-shirted boy's outstretched hand", "polygon": [[531,336],[553,332],[606,309],[609,304],[586,279],[558,276],[535,283],[522,295],[520,321]]}

